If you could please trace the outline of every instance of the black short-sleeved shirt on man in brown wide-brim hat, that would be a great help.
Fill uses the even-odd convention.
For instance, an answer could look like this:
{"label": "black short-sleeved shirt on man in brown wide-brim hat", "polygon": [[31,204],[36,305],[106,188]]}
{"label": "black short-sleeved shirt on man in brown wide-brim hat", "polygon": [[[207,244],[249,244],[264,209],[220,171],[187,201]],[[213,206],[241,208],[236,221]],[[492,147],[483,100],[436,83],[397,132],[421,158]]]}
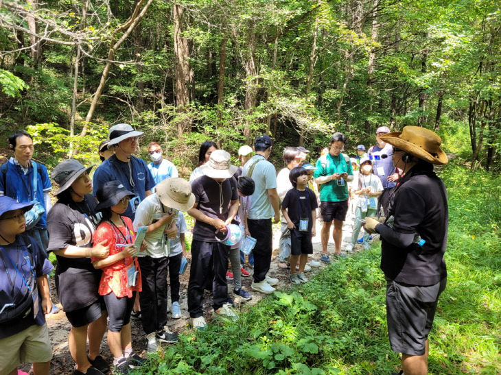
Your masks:
{"label": "black short-sleeved shirt on man in brown wide-brim hat", "polygon": [[389,215],[393,230],[417,232],[426,242],[402,248],[382,236],[381,269],[386,277],[410,285],[434,285],[447,276],[443,254],[447,245],[447,193],[432,165],[413,167],[395,188]]}

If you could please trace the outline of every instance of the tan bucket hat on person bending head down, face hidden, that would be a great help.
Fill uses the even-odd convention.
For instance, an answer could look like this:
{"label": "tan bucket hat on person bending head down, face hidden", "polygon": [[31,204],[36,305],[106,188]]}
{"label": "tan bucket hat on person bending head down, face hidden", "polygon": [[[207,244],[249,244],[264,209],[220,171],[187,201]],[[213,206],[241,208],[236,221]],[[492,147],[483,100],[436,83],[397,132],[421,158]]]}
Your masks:
{"label": "tan bucket hat on person bending head down, face hidden", "polygon": [[191,193],[191,185],[180,177],[166,178],[156,185],[156,195],[164,206],[179,211],[187,211],[195,204],[195,195]]}

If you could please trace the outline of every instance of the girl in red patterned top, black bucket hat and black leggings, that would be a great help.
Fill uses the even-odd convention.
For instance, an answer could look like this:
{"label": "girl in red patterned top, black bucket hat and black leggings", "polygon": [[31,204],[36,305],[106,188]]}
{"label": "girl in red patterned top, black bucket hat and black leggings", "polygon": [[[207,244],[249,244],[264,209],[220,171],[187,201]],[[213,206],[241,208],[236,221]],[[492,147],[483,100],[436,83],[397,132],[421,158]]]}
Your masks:
{"label": "girl in red patterned top, black bucket hat and black leggings", "polygon": [[136,293],[141,291],[141,269],[134,257],[137,249],[133,245],[132,221],[121,216],[135,193],[119,181],[109,181],[97,190],[96,196],[101,203],[95,209],[102,211],[103,216],[93,243],[108,241],[110,252],[106,258],[91,259],[96,269],[102,269],[99,293],[108,311],[108,347],[113,354],[114,374],[128,374],[146,361],[132,350],[130,313]]}

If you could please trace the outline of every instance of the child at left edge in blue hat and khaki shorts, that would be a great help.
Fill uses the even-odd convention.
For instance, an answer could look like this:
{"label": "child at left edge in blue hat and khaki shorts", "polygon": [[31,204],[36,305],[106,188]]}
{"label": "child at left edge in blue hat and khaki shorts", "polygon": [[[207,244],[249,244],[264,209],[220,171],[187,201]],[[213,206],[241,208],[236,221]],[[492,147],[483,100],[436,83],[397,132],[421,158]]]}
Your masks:
{"label": "child at left edge in blue hat and khaki shorts", "polygon": [[[23,235],[32,203],[0,196],[0,374],[21,362],[48,375],[52,348],[45,315],[51,311],[47,274],[54,268],[38,242]],[[36,300],[34,300],[36,297]]]}

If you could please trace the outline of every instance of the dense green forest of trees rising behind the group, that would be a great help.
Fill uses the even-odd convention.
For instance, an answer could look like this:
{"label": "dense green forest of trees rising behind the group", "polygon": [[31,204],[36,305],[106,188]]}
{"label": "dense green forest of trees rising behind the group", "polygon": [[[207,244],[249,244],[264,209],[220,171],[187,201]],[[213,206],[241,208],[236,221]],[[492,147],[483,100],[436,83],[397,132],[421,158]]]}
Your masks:
{"label": "dense green forest of trees rising behind the group", "polygon": [[[498,1],[0,1],[0,129],[38,157],[97,160],[110,125],[143,130],[180,170],[206,139],[266,132],[318,153],[380,125],[439,132],[500,169]],[[143,147],[144,148],[144,147]],[[144,149],[143,149],[144,152]],[[279,152],[275,153],[279,158]],[[184,168],[184,169],[183,169]]]}

